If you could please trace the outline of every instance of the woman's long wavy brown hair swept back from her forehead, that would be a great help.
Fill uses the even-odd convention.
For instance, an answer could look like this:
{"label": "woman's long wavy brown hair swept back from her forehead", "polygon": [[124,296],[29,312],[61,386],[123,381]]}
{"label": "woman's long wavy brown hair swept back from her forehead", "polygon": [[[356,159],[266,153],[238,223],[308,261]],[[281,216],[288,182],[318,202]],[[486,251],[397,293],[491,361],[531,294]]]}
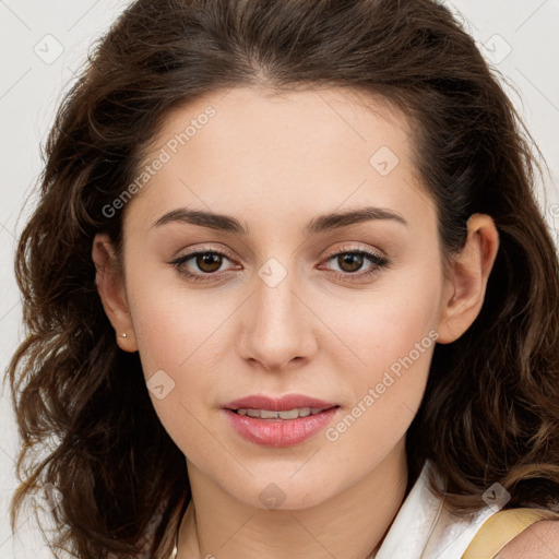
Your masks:
{"label": "woman's long wavy brown hair swept back from her forehead", "polygon": [[[342,86],[409,118],[414,163],[438,209],[444,260],[489,214],[499,250],[479,316],[435,348],[407,433],[409,479],[426,459],[455,512],[559,509],[559,265],[535,202],[538,165],[512,103],[451,12],[431,0],[138,0],[96,45],[46,144],[40,197],[15,258],[28,335],[9,366],[22,447],[12,530],[50,483],[52,547],[83,558],[163,558],[190,499],[185,456],[148,397],[138,353],[115,342],[91,258],[122,245],[103,209],[138,176],[169,111],[235,86]],[[35,449],[50,442],[46,455]],[[432,490],[440,491],[435,478]]]}

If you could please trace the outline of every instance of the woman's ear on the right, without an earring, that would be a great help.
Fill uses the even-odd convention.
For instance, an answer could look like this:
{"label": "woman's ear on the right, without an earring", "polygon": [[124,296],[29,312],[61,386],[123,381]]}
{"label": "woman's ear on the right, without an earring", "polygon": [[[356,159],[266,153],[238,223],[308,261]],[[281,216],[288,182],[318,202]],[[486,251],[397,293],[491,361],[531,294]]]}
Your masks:
{"label": "woman's ear on the right, without an earring", "polygon": [[466,243],[453,257],[445,280],[438,343],[450,344],[457,340],[479,314],[498,248],[499,234],[492,218],[486,214],[471,215]]}

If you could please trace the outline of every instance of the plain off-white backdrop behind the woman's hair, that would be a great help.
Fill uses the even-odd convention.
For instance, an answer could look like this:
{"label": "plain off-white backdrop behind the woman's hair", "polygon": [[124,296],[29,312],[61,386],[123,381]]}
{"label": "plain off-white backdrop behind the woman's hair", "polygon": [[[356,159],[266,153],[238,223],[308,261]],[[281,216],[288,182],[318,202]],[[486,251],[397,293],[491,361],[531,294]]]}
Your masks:
{"label": "plain off-white backdrop behind the woman's hair", "polygon": [[[3,371],[23,335],[20,293],[13,277],[15,239],[33,203],[41,169],[40,145],[62,94],[90,46],[129,1],[0,0],[0,367]],[[503,75],[503,87],[525,119],[549,166],[538,199],[559,235],[559,0],[454,0],[486,58]],[[545,190],[544,190],[545,187]],[[546,194],[546,195],[544,195]],[[33,201],[33,198],[32,198]],[[16,487],[17,432],[8,397],[0,394],[0,558],[52,555],[33,519],[9,526]]]}

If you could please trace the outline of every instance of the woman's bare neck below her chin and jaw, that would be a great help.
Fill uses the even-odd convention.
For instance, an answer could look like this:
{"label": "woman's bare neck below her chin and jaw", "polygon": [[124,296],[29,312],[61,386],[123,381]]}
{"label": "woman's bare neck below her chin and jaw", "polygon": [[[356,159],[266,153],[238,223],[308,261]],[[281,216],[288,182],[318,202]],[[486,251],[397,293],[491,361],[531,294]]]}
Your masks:
{"label": "woman's bare neck below her chin and jaw", "polygon": [[382,544],[405,496],[405,438],[367,476],[306,509],[267,510],[225,493],[188,462],[192,500],[177,559],[361,559]]}

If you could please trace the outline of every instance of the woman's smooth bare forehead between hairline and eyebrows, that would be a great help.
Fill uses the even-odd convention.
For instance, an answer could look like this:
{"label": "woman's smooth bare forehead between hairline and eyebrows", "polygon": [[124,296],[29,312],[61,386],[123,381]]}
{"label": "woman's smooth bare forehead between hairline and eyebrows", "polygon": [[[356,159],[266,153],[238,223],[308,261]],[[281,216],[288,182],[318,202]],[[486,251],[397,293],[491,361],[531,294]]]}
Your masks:
{"label": "woman's smooth bare forehead between hairline and eyebrows", "polygon": [[216,91],[166,115],[141,168],[165,164],[139,197],[151,216],[181,201],[280,211],[349,198],[390,206],[405,189],[425,199],[409,134],[389,102],[354,90]]}

